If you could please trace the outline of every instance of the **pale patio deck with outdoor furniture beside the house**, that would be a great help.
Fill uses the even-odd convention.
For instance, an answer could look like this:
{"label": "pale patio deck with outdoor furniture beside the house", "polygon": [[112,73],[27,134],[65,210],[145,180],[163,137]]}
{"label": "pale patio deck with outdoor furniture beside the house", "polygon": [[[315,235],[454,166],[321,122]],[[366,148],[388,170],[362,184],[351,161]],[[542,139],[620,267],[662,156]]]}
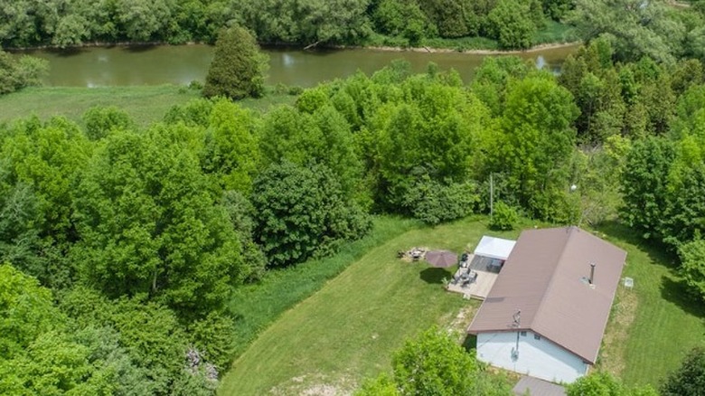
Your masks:
{"label": "pale patio deck with outdoor furniture beside the house", "polygon": [[[447,284],[447,290],[461,293],[468,298],[484,300],[499,275],[501,267],[498,265],[498,260],[471,254],[467,261],[469,263],[467,267],[457,269],[454,275],[454,279],[457,280],[451,279]],[[476,277],[470,275],[475,273]]]}

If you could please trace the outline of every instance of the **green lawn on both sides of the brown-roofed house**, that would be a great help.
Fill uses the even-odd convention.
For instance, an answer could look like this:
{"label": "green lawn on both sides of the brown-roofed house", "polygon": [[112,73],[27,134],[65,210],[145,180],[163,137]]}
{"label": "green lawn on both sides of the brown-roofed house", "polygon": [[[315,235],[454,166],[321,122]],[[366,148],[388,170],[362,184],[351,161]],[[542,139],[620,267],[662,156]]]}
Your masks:
{"label": "green lawn on both sides of the brown-roofed house", "polygon": [[[392,237],[390,229],[395,222],[405,231]],[[376,247],[360,254],[360,259],[317,292],[315,288],[323,284],[320,278],[304,287],[305,293],[295,292],[298,299],[313,293],[296,306],[292,302],[296,298],[284,298],[277,306],[273,298],[281,293],[275,289],[292,288],[287,283],[297,279],[315,279],[310,274],[320,269],[309,275],[296,273],[299,269],[283,272],[264,288],[268,292],[253,288],[241,295],[232,306],[236,314],[269,320],[256,320],[263,330],[254,342],[245,343],[249,348],[224,376],[220,394],[352,391],[364,378],[389,372],[391,355],[406,338],[430,325],[463,329],[479,303],[444,292],[441,278],[446,272],[423,263],[403,262],[396,252],[412,246],[461,251],[483,234],[509,238],[519,234],[488,231],[485,225],[484,217],[433,228],[389,218],[378,220],[377,228],[386,231],[379,231],[380,236],[373,238],[376,242],[364,242]],[[525,222],[522,227],[531,225]],[[627,251],[623,275],[634,278],[634,288],[618,291],[598,369],[614,372],[630,385],[658,386],[692,346],[702,343],[705,309],[687,297],[671,256],[635,239],[619,225],[610,224],[599,231],[604,232],[600,236]],[[362,249],[361,245],[354,251],[359,254]],[[354,255],[347,254],[343,261],[353,259]],[[324,265],[324,261],[315,263]],[[311,263],[302,268],[308,265]],[[328,277],[346,265],[338,265]],[[276,313],[270,312],[272,306],[277,306]],[[289,306],[293,307],[287,310]],[[284,313],[279,316],[279,312]],[[465,316],[459,317],[459,313]],[[278,320],[265,329],[275,317]]]}

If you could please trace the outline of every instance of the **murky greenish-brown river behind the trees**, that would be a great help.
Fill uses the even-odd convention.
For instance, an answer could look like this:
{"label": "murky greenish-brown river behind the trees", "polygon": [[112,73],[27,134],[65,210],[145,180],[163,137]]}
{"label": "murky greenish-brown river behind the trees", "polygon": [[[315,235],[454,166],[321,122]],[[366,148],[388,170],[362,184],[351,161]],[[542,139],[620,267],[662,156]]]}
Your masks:
{"label": "murky greenish-brown river behind the trees", "polygon": [[[562,61],[577,46],[522,52],[524,59],[558,71]],[[441,70],[455,69],[468,82],[485,56],[460,52],[394,52],[371,49],[303,51],[269,48],[267,83],[312,87],[324,80],[343,78],[357,70],[380,70],[390,61],[409,61],[413,71],[424,71],[429,61]],[[100,87],[124,85],[188,84],[205,80],[213,57],[209,45],[159,45],[149,47],[86,47],[70,51],[24,52],[49,61],[44,80],[48,86]]]}

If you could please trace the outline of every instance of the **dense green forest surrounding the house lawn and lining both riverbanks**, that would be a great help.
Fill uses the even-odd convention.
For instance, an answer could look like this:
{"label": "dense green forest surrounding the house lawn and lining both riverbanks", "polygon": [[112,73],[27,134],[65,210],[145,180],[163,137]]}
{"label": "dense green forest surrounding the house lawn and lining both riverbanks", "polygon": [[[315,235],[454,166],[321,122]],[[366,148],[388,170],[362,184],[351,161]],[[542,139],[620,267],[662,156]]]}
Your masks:
{"label": "dense green forest surrounding the house lawn and lining both riverbanks", "polygon": [[[394,31],[399,13],[452,36],[516,9],[468,2],[486,3],[487,19],[450,24],[433,1],[298,10],[313,20],[295,2],[21,3],[0,6],[4,46],[212,42],[230,20],[264,42],[347,43],[371,26],[409,33]],[[340,250],[376,216],[487,213],[490,177],[499,227],[518,215],[623,222],[668,251],[705,303],[705,8],[639,3],[537,3],[586,41],[558,75],[497,57],[464,84],[396,61],[264,113],[216,94],[146,128],[115,107],[0,124],[0,393],[213,394],[240,347],[234,291]],[[268,12],[286,20],[266,25]],[[33,81],[22,70],[10,74]],[[673,386],[663,394],[685,394]]]}

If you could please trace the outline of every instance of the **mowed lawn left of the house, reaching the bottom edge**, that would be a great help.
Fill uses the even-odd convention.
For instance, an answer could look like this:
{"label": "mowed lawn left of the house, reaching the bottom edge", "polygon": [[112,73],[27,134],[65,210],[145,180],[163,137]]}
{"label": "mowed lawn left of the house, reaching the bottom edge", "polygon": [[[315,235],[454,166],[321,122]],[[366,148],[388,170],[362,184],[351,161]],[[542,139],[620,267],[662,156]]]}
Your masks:
{"label": "mowed lawn left of the house, reaching the bottom edge", "polygon": [[339,394],[365,377],[390,372],[391,356],[405,339],[430,325],[450,326],[461,310],[479,306],[443,289],[450,270],[403,261],[397,251],[418,246],[461,252],[485,234],[516,238],[519,231],[488,231],[482,217],[420,226],[369,250],[262,332],[233,363],[219,393]]}

